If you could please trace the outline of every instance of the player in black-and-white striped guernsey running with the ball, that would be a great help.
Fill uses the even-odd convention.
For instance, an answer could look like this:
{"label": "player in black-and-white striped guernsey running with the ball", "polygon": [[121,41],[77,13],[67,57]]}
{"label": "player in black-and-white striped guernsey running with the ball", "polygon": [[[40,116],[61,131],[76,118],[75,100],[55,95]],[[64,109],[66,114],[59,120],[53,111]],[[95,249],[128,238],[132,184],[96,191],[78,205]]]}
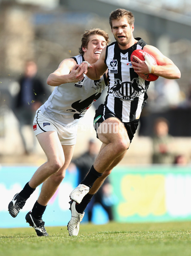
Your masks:
{"label": "player in black-and-white striped guernsey running with the ball", "polygon": [[[134,137],[141,110],[147,98],[149,82],[141,79],[138,73],[155,73],[167,79],[179,79],[180,70],[172,60],[157,48],[147,45],[141,38],[134,38],[134,16],[131,11],[117,9],[110,14],[110,26],[115,42],[105,47],[99,60],[93,65],[82,63],[77,70],[91,79],[99,79],[108,69],[109,90],[105,103],[95,113],[95,129],[102,147],[93,166],[81,184],[70,193],[71,200],[83,212],[84,199],[94,182],[106,170],[119,163]],[[131,62],[131,53],[143,49],[156,56],[158,65],[152,66],[148,60]],[[82,206],[81,206],[82,205]],[[80,207],[81,206],[81,207]]]}

